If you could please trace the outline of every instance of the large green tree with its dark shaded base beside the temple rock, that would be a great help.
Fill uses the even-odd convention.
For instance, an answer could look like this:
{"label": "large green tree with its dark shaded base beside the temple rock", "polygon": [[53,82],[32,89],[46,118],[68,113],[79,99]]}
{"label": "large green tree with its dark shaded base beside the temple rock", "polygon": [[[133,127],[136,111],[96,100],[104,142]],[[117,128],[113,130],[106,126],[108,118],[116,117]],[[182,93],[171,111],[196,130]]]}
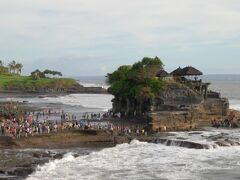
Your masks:
{"label": "large green tree with its dark shaded base beside the temple rock", "polygon": [[158,57],[145,57],[132,66],[121,66],[107,74],[108,91],[115,96],[113,104],[120,107],[116,112],[132,116],[149,111],[152,99],[162,87],[162,81],[156,78],[161,69],[163,63]]}

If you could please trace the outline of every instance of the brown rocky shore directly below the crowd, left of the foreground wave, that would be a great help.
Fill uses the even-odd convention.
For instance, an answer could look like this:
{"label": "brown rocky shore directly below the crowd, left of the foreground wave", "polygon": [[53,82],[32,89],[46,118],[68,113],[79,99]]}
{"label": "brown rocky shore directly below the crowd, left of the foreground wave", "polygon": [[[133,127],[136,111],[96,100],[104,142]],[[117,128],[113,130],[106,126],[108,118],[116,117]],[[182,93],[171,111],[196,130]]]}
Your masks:
{"label": "brown rocky shore directly below the crowd, left of the foreground wave", "polygon": [[82,148],[79,153],[89,153],[89,149],[99,150],[116,144],[130,143],[133,139],[153,142],[155,136],[117,136],[108,131],[71,130],[14,139],[0,136],[0,179],[24,179],[33,173],[38,165],[50,160],[61,159],[69,149]]}

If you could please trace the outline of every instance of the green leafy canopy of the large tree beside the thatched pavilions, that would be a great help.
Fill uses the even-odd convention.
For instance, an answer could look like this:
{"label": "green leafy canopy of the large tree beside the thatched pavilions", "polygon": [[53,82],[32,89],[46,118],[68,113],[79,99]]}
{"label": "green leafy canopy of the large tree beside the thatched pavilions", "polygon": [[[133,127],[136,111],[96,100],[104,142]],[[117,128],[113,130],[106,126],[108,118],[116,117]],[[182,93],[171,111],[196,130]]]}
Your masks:
{"label": "green leafy canopy of the large tree beside the thatched pavilions", "polygon": [[145,57],[132,66],[121,66],[107,75],[109,92],[138,101],[151,99],[162,87],[162,82],[156,78],[160,69],[163,63],[158,57]]}

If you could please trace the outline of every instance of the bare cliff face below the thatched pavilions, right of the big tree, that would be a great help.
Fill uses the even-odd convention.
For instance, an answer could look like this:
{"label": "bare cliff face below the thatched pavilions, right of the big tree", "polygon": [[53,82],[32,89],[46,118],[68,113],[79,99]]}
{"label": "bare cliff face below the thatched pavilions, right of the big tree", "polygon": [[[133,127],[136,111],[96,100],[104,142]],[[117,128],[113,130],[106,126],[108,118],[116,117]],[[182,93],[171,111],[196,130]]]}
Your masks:
{"label": "bare cliff face below the thatched pavilions, right of the big tree", "polygon": [[148,113],[153,131],[191,130],[212,119],[224,118],[229,111],[226,98],[204,99],[194,90],[174,85],[166,87]]}

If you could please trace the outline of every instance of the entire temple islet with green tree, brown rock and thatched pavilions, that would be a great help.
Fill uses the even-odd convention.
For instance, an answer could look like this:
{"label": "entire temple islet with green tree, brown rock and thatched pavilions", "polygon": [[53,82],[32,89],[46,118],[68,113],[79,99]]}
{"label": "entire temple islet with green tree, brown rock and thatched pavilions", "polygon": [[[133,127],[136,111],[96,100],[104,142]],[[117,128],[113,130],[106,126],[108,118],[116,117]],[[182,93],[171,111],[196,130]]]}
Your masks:
{"label": "entire temple islet with green tree, brown rock and thatched pavilions", "polygon": [[200,70],[187,66],[169,73],[163,67],[158,57],[145,57],[108,74],[113,114],[147,122],[153,131],[191,130],[227,116],[228,99],[210,90]]}

